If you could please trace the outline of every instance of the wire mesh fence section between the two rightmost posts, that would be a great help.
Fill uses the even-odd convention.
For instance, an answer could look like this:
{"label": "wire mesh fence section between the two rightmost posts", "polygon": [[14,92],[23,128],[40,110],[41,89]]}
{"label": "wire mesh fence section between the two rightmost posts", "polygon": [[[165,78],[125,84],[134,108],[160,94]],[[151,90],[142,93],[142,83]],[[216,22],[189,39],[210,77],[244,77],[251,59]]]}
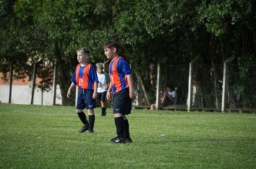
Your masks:
{"label": "wire mesh fence section between the two rightmost posts", "polygon": [[222,72],[221,65],[192,64],[191,107],[220,109]]}

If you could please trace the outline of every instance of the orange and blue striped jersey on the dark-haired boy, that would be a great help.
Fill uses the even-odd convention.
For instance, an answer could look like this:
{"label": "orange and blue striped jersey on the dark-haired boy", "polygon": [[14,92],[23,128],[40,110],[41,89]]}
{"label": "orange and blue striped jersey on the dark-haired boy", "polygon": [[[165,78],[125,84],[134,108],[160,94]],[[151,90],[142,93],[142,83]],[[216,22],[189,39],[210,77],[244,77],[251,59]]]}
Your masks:
{"label": "orange and blue striped jersey on the dark-haired boy", "polygon": [[127,77],[131,74],[131,67],[122,57],[111,60],[109,64],[109,77],[112,85],[112,91],[115,94],[129,87]]}

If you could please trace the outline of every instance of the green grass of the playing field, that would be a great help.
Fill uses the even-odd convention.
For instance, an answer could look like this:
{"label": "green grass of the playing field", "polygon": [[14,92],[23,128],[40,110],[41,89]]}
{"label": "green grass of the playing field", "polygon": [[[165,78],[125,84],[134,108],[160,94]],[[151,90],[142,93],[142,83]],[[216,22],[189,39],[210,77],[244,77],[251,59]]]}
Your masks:
{"label": "green grass of the playing field", "polygon": [[255,114],[132,110],[114,145],[107,111],[78,134],[74,107],[0,104],[0,168],[256,168]]}

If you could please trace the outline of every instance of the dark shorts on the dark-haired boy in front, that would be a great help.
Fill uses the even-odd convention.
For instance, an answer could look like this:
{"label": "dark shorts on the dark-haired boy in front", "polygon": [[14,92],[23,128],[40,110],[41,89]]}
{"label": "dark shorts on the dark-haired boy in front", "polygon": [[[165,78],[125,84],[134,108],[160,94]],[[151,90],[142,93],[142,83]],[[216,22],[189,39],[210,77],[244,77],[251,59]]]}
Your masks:
{"label": "dark shorts on the dark-haired boy in front", "polygon": [[121,113],[128,115],[131,113],[132,100],[129,97],[129,89],[116,92],[113,96],[113,114]]}

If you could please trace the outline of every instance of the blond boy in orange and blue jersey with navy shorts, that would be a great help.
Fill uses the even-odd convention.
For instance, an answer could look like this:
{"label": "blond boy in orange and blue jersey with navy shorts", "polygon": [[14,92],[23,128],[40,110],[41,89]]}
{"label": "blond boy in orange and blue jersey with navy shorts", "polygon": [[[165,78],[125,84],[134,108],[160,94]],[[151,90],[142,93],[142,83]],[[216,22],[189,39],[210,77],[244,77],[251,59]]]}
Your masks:
{"label": "blond boy in orange and blue jersey with navy shorts", "polygon": [[[83,127],[78,132],[89,130],[89,132],[92,133],[95,121],[93,108],[96,108],[97,85],[99,80],[96,74],[96,69],[94,69],[92,64],[87,62],[89,53],[90,52],[86,48],[81,48],[76,51],[79,64],[71,79],[72,82],[68,89],[67,97],[70,97],[72,88],[78,85],[76,112],[78,113],[81,122],[83,122]],[[84,108],[87,109],[89,122],[83,112]]]}

